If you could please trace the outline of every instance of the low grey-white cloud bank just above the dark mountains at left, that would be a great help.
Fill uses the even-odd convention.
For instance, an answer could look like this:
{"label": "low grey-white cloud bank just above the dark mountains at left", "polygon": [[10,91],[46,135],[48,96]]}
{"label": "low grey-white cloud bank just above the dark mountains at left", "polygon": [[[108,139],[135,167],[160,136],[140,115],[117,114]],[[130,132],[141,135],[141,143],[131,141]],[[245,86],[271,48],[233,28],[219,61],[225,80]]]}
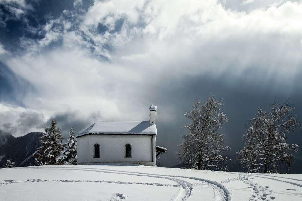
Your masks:
{"label": "low grey-white cloud bank just above the dark mountains at left", "polygon": [[44,116],[43,111],[40,112],[2,103],[0,103],[0,110],[1,130],[15,137],[23,136],[30,132],[45,132],[44,127],[50,126],[50,119],[57,121],[57,126],[61,129],[64,137],[68,137],[71,128],[74,129],[75,133],[80,133],[86,127],[90,126],[91,122],[103,119],[100,111],[94,111],[86,116],[79,110],[67,109]]}

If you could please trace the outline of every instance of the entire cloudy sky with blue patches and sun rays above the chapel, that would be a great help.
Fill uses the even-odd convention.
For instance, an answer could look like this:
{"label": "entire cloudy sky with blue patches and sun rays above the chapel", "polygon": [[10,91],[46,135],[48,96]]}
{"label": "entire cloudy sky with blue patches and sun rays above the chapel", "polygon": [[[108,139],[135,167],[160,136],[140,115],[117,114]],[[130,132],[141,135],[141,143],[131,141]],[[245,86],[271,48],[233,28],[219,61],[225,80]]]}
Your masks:
{"label": "entire cloudy sky with blue patches and sun rays above the chapel", "polygon": [[301,121],[301,19],[301,1],[0,0],[0,129],[21,136],[56,118],[67,135],[157,105],[157,144],[175,165],[182,114],[214,93],[233,154],[275,96]]}

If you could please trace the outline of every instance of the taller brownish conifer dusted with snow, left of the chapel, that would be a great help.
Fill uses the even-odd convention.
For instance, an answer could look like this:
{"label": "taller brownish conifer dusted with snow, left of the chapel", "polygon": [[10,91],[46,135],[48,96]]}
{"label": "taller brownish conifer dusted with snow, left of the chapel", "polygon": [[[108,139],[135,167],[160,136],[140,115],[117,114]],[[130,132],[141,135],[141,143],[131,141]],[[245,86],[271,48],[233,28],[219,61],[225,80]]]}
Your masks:
{"label": "taller brownish conifer dusted with snow, left of the chapel", "polygon": [[51,119],[51,126],[45,127],[44,130],[46,134],[39,138],[41,146],[33,156],[37,165],[54,165],[61,151],[65,149],[62,144],[64,137],[61,136],[61,129],[56,126],[54,119]]}

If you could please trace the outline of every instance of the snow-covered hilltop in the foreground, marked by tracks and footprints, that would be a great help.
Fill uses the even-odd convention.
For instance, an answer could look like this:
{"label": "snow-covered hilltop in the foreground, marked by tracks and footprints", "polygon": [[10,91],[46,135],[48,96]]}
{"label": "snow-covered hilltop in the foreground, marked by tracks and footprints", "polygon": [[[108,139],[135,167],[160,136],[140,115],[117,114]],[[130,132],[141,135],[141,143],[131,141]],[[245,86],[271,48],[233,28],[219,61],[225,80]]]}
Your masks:
{"label": "snow-covered hilltop in the foreground, marked by tracks and footprints", "polygon": [[302,200],[301,174],[140,165],[0,169],[0,200]]}

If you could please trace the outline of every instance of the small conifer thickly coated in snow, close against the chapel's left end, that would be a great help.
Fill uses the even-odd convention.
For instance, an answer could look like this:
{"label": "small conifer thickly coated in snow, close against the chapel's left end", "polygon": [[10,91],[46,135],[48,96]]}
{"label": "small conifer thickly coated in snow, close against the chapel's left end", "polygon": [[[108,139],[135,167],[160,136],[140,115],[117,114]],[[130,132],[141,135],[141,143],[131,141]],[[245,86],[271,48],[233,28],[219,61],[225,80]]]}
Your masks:
{"label": "small conifer thickly coated in snow, close against the chapel's left end", "polygon": [[77,164],[77,140],[75,138],[73,129],[70,129],[67,143],[64,144],[64,149],[58,156],[56,162],[61,165],[76,165]]}

